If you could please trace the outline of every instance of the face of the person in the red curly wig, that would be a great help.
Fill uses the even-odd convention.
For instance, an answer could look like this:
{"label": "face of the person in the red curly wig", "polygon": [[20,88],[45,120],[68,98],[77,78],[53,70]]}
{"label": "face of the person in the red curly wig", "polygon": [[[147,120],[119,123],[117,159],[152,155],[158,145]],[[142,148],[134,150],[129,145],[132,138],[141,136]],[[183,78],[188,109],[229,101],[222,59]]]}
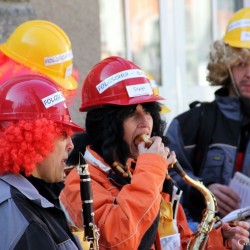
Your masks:
{"label": "face of the person in the red curly wig", "polygon": [[55,141],[54,151],[36,164],[32,175],[49,183],[62,181],[68,153],[74,148],[71,137],[65,135]]}

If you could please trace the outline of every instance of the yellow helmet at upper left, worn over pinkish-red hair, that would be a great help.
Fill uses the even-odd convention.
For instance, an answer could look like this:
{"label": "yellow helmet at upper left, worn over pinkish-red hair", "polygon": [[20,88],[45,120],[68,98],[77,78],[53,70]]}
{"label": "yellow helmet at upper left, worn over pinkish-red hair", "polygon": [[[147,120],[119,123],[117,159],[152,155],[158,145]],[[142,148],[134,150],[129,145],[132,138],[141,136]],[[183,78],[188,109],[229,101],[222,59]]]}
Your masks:
{"label": "yellow helmet at upper left, worn over pinkish-red hair", "polygon": [[56,24],[30,20],[19,25],[0,50],[12,60],[52,78],[64,89],[74,90],[71,42]]}

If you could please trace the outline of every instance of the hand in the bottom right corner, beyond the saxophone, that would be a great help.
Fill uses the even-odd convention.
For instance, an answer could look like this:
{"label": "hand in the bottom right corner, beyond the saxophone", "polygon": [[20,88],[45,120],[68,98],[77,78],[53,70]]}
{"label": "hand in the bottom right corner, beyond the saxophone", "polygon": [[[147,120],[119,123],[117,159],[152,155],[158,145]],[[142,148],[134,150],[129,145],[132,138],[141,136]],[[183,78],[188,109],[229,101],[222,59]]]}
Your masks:
{"label": "hand in the bottom right corner, beyond the saxophone", "polygon": [[249,228],[250,224],[247,221],[239,221],[236,226],[223,223],[221,232],[226,246],[232,250],[238,250],[249,245]]}

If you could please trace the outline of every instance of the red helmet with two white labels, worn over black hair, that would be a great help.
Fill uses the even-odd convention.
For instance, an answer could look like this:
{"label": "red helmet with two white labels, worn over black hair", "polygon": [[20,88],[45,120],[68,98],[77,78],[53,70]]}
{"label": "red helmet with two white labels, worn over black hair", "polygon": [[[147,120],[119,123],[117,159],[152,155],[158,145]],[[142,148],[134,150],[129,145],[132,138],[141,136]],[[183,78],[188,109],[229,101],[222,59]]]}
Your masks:
{"label": "red helmet with two white labels, worn over black hair", "polygon": [[105,104],[131,105],[165,100],[154,94],[146,72],[133,62],[108,57],[96,64],[82,86],[80,111]]}

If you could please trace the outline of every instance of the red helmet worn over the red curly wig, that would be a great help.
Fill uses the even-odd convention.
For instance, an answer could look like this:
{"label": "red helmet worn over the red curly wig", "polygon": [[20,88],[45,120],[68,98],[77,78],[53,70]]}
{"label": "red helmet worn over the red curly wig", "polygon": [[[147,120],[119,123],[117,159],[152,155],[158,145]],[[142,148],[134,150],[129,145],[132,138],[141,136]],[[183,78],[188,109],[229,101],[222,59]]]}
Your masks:
{"label": "red helmet worn over the red curly wig", "polygon": [[0,85],[0,120],[34,120],[47,118],[83,131],[73,123],[65,98],[49,78],[22,75]]}

